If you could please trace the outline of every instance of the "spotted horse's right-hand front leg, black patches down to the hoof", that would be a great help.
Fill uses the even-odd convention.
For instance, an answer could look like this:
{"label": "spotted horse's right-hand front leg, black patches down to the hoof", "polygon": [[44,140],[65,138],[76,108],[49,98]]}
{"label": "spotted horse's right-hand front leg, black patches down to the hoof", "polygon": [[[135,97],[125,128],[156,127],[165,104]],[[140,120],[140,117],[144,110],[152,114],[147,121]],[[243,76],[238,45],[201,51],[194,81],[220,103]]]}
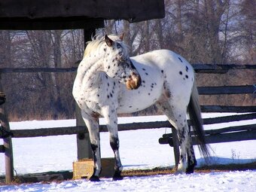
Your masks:
{"label": "spotted horse's right-hand front leg, black patches down to the hoof", "polygon": [[106,120],[106,125],[108,127],[109,140],[112,150],[114,151],[114,175],[113,180],[121,180],[123,177],[121,176],[121,172],[123,170],[123,166],[120,160],[119,154],[119,138],[117,131],[117,112],[115,108],[105,107],[102,108],[103,116]]}

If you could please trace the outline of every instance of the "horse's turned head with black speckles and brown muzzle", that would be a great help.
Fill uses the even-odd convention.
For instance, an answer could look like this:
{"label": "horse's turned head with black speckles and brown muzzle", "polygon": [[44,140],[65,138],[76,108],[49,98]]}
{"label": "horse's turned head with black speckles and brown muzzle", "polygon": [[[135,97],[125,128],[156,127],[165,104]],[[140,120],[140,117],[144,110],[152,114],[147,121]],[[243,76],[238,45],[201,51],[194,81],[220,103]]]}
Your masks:
{"label": "horse's turned head with black speckles and brown muzzle", "polygon": [[142,84],[142,80],[130,60],[126,45],[123,44],[123,35],[121,37],[113,35],[110,38],[105,35],[105,44],[105,73],[109,77],[117,79],[120,83],[126,84],[128,90],[138,89]]}

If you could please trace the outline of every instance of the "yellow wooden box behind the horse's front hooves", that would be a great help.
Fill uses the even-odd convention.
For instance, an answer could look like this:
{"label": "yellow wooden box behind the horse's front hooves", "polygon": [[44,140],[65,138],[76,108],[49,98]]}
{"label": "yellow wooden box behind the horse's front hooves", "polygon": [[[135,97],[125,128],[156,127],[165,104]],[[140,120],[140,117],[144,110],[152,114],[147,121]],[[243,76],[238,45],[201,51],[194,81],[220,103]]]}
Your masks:
{"label": "yellow wooden box behind the horse's front hooves", "polygon": [[[73,179],[90,178],[93,175],[93,159],[73,162]],[[114,158],[102,158],[100,177],[111,178],[114,175]]]}

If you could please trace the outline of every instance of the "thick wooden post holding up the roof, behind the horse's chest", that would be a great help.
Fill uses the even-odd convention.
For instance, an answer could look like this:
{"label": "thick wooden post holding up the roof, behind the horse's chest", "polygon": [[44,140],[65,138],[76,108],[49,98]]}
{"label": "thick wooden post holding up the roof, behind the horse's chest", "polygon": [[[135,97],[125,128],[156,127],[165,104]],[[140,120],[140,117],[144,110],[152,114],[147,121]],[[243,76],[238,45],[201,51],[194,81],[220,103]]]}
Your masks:
{"label": "thick wooden post holding up the roof, behind the horse's chest", "polygon": [[[84,29],[84,48],[86,47],[86,42],[91,40],[91,36],[95,34],[95,29]],[[81,117],[81,110],[76,105],[75,109],[76,124],[77,126],[85,126],[84,120]],[[93,158],[93,151],[90,147],[89,133],[81,133],[77,135],[77,145],[78,145],[78,160],[84,158]]]}

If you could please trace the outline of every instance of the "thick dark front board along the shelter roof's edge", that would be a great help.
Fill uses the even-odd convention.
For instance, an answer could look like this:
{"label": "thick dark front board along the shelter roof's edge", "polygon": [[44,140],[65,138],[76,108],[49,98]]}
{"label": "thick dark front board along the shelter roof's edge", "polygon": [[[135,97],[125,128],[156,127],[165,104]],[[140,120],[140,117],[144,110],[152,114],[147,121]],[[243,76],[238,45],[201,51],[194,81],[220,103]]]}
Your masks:
{"label": "thick dark front board along the shelter roof's edge", "polygon": [[0,17],[11,19],[86,17],[139,21],[163,18],[165,14],[163,0],[0,0],[0,3]]}

